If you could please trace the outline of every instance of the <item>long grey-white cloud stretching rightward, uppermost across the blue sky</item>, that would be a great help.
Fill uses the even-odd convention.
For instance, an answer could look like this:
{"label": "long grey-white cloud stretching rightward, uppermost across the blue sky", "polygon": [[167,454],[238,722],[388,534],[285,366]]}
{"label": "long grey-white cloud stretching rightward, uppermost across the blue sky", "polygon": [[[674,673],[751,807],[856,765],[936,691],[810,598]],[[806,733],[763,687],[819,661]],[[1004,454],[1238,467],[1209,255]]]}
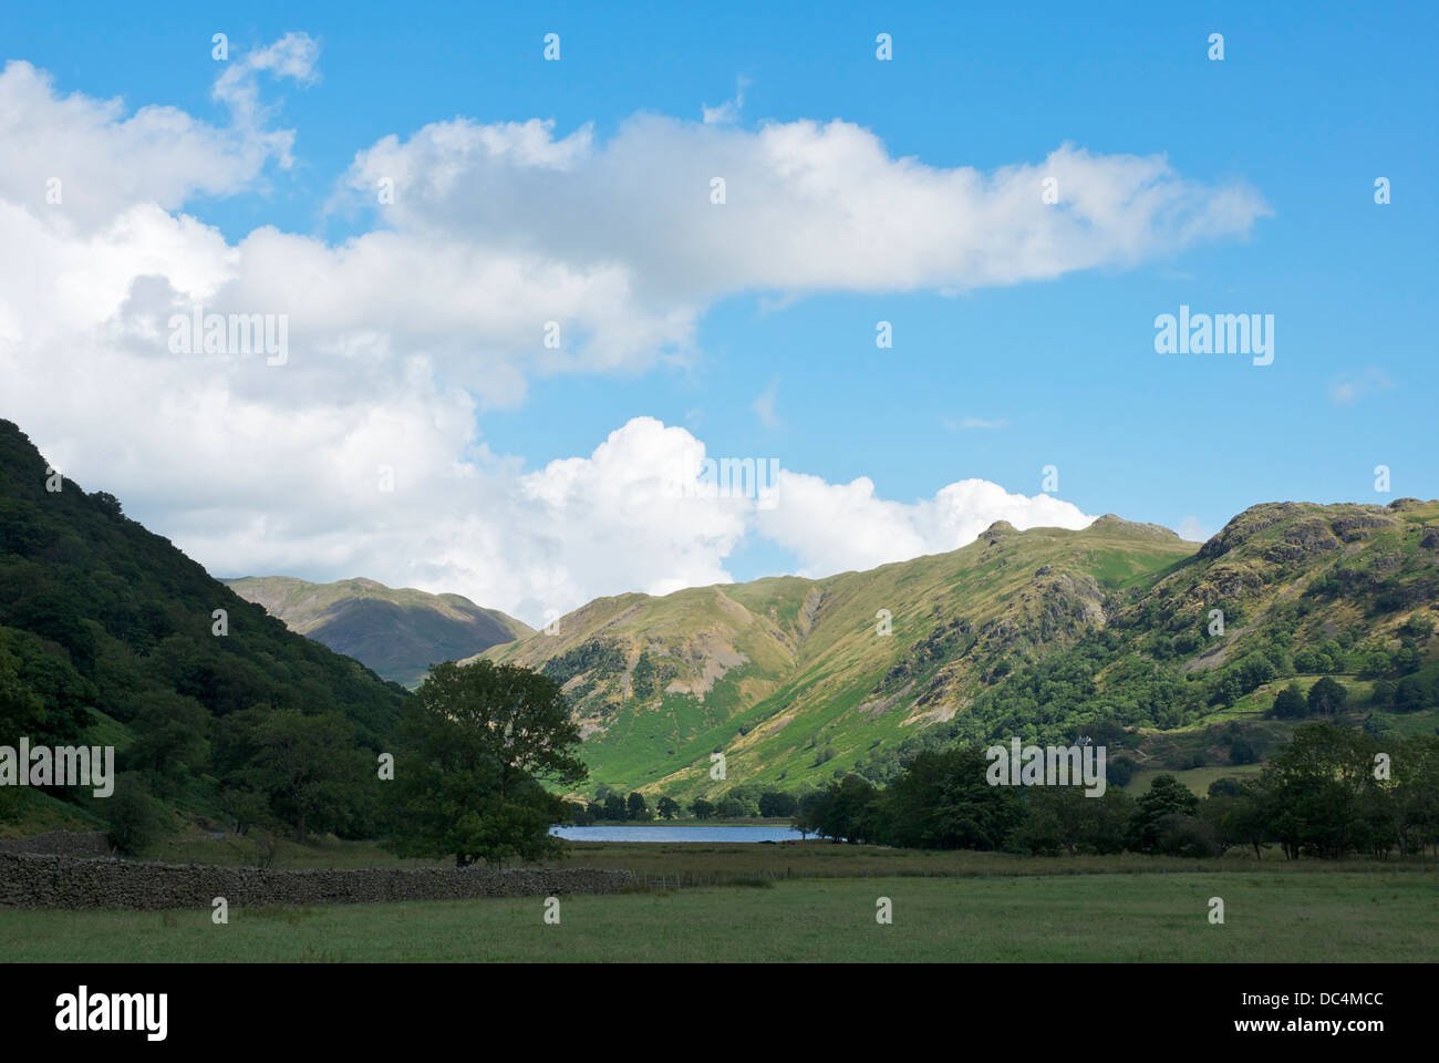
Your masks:
{"label": "long grey-white cloud stretching rightward, uppermost across the blue sky", "polygon": [[1048,279],[1243,236],[1268,213],[1248,186],[1189,181],[1157,156],[1063,145],[993,173],[937,169],[837,120],[741,130],[645,114],[597,144],[589,125],[555,138],[553,122],[456,118],[361,151],[347,181],[368,199],[387,177],[397,230],[622,262],[639,297],[688,304]]}

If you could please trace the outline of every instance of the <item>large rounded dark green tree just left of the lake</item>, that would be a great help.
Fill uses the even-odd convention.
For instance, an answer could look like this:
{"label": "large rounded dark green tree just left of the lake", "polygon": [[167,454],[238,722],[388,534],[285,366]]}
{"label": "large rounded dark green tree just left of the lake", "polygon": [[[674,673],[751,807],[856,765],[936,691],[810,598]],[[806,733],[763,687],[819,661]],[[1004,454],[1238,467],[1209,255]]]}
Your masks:
{"label": "large rounded dark green tree just left of the lake", "polygon": [[437,664],[406,706],[410,749],[396,765],[400,856],[452,853],[460,867],[560,851],[550,827],[564,802],[544,784],[574,785],[580,729],[560,684],[514,664]]}

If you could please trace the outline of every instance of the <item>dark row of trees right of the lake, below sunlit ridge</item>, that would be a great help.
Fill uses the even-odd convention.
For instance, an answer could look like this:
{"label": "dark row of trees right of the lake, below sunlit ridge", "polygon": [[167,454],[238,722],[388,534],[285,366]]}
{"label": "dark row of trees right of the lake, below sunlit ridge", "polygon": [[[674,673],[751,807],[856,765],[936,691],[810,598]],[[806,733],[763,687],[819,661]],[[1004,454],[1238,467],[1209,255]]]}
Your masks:
{"label": "dark row of trees right of the lake, below sunlit ridge", "polygon": [[983,749],[927,750],[888,786],[846,775],[800,801],[794,827],[833,841],[1029,854],[1222,856],[1266,846],[1285,857],[1439,853],[1439,737],[1380,740],[1304,723],[1252,778],[1204,798],[1173,775],[1138,798],[1109,786],[993,786]]}

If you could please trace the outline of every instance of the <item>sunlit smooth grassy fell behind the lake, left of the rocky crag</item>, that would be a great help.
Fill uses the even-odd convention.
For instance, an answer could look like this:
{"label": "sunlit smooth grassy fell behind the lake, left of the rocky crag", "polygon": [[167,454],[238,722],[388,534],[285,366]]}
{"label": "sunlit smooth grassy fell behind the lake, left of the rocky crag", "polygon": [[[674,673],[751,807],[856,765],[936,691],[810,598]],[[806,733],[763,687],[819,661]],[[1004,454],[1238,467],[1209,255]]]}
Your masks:
{"label": "sunlit smooth grassy fell behind the lake, left of the rocky crag", "polygon": [[709,789],[711,750],[734,781],[829,779],[953,719],[1002,667],[1102,625],[1107,595],[1194,549],[1115,517],[1084,532],[999,523],[871,572],[602,598],[485,657],[564,683],[597,782]]}

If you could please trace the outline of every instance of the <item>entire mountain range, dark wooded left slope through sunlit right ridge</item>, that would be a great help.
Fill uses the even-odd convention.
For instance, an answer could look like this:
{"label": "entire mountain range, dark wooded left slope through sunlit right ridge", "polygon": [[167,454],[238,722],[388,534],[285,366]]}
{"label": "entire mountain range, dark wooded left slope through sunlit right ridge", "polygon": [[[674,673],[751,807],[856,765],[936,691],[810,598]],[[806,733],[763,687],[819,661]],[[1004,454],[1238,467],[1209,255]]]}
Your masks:
{"label": "entire mountain range, dark wooded left slope through sunlit right ridge", "polygon": [[255,713],[342,717],[354,750],[386,748],[403,687],[324,641],[409,684],[448,658],[535,668],[581,725],[587,792],[714,797],[885,782],[915,750],[1012,736],[1242,769],[1292,726],[1276,691],[1321,677],[1347,722],[1427,732],[1436,604],[1439,501],[1399,498],[1253,506],[1203,544],[1115,516],[1000,521],[948,553],[600,598],[532,631],[367,579],[227,586],[0,421],[0,730],[114,743],[177,807],[248,785],[230,723]]}

